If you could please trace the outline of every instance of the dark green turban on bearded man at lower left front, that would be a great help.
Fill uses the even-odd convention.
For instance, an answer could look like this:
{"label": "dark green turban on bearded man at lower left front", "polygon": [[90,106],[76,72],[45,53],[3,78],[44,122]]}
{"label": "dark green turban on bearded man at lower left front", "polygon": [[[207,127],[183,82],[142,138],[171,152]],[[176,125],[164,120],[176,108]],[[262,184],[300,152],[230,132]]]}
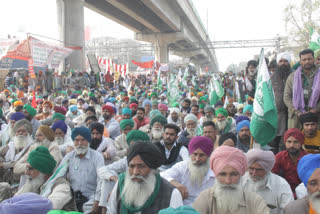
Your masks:
{"label": "dark green turban on bearded man at lower left front", "polygon": [[28,162],[33,168],[46,175],[52,174],[57,164],[45,146],[38,146],[30,152]]}

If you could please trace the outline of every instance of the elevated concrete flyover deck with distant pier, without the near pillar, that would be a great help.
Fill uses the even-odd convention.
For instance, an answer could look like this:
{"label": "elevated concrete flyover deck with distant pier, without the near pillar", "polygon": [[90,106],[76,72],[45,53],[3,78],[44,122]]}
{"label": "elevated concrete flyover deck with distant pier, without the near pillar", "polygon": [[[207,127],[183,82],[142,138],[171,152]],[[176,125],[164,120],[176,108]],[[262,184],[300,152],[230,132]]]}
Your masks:
{"label": "elevated concrete flyover deck with distant pier, without the near pillar", "polygon": [[[212,71],[218,71],[214,49],[209,46],[209,36],[191,0],[59,1],[78,1],[77,4],[83,3],[85,7],[133,30],[137,40],[155,45],[155,57],[161,63],[169,61],[170,50],[202,68],[208,65]],[[65,12],[64,19],[70,16],[68,12],[74,13],[71,10]]]}

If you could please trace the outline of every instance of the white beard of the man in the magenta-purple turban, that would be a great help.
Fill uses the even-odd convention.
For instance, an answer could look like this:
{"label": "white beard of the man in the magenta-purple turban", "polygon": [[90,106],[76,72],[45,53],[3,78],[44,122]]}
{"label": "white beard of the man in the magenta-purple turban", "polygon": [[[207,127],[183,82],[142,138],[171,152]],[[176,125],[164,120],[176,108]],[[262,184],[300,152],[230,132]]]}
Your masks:
{"label": "white beard of the man in the magenta-purple turban", "polygon": [[195,165],[191,159],[188,161],[188,169],[190,173],[190,180],[192,185],[200,186],[203,182],[204,177],[207,175],[209,170],[210,164],[209,159],[206,163],[202,164],[201,166]]}

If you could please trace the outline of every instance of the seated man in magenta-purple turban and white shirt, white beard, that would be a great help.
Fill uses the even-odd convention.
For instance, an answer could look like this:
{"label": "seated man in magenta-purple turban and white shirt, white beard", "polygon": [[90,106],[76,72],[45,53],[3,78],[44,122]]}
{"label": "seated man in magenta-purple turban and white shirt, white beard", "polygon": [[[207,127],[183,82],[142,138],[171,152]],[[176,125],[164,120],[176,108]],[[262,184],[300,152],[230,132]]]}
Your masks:
{"label": "seated man in magenta-purple turban and white shirt, white beard", "polygon": [[160,173],[181,192],[184,205],[191,206],[200,192],[213,186],[215,176],[209,165],[212,150],[209,138],[193,137],[189,143],[190,159]]}

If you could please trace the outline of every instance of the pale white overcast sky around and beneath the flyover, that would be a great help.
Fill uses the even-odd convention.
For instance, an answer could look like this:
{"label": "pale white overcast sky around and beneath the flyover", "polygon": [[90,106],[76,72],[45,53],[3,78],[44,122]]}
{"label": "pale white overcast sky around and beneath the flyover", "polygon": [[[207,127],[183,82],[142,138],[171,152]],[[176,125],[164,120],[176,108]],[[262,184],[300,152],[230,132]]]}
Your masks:
{"label": "pale white overcast sky around and beneath the flyover", "polygon": [[[283,9],[295,0],[193,0],[211,40],[272,39],[284,34]],[[296,0],[298,1],[298,0]],[[58,38],[55,0],[0,0],[0,37],[17,31]],[[91,36],[133,38],[129,29],[85,9]],[[271,49],[268,49],[271,50]],[[248,61],[260,48],[217,49],[221,71],[231,63]]]}

